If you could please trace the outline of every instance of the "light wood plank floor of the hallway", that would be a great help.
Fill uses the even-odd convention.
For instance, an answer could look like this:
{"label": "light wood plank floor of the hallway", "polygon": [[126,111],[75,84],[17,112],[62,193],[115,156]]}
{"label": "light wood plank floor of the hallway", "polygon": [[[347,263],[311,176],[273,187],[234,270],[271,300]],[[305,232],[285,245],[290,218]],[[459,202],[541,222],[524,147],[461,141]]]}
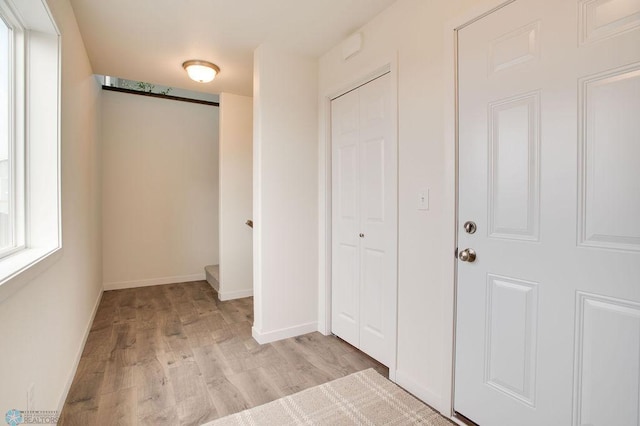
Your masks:
{"label": "light wood plank floor of the hallway", "polygon": [[200,425],[353,372],[388,370],[320,333],[258,345],[253,300],[206,281],[107,291],[59,425]]}

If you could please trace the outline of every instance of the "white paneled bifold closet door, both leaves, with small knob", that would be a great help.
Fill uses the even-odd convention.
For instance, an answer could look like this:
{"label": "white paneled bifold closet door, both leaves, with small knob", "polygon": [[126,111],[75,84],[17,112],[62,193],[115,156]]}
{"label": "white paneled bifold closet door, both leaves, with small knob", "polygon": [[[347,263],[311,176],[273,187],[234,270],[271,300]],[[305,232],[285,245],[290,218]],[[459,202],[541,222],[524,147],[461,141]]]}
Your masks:
{"label": "white paneled bifold closet door, both leaves, with small knob", "polygon": [[397,300],[392,107],[390,74],[331,102],[332,332],[386,365]]}

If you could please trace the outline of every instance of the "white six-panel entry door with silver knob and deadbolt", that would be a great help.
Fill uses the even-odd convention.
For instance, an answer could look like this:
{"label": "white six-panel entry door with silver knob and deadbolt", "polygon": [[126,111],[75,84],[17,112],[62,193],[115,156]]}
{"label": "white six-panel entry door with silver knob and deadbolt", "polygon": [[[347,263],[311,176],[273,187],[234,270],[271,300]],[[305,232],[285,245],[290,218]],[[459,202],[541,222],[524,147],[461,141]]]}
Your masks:
{"label": "white six-panel entry door with silver knob and deadbolt", "polygon": [[516,0],[458,42],[455,410],[637,426],[640,1]]}

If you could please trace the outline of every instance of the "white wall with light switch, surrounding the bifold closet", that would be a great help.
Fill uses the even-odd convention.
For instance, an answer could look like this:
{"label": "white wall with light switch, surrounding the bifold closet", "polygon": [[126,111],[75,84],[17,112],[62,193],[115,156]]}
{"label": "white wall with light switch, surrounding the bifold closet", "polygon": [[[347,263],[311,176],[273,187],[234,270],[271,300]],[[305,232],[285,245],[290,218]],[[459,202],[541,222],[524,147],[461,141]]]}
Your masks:
{"label": "white wall with light switch, surrounding the bifold closet", "polygon": [[[362,28],[363,50],[343,61],[336,46],[320,58],[320,235],[326,232],[326,96],[398,61],[399,384],[449,414],[453,329],[453,147],[444,142],[445,23],[479,2],[399,0]],[[453,39],[447,40],[453,43]],[[330,187],[329,187],[330,188]],[[429,210],[418,194],[429,190]],[[320,239],[320,322],[326,324],[326,249]],[[324,330],[326,331],[326,330]]]}

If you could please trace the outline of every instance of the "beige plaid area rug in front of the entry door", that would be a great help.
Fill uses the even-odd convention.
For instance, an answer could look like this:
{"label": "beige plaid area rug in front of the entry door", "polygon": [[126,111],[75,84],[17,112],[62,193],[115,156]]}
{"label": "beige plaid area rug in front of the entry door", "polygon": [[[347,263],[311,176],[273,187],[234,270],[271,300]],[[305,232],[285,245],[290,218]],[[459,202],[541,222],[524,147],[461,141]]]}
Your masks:
{"label": "beige plaid area rug in front of the entry door", "polygon": [[371,368],[205,426],[301,424],[450,426],[453,423]]}

